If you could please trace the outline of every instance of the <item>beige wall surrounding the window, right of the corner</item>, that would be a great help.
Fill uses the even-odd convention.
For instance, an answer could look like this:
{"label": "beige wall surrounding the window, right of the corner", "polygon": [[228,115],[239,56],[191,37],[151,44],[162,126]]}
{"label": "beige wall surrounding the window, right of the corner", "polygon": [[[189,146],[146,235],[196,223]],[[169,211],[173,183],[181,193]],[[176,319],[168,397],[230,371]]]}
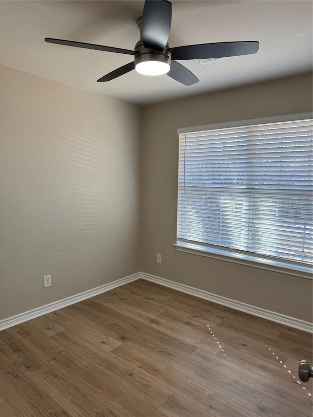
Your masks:
{"label": "beige wall surrounding the window, right of the corner", "polygon": [[[312,75],[143,110],[142,271],[312,321],[312,281],[176,251],[177,129],[312,111]],[[156,263],[156,254],[162,264]]]}

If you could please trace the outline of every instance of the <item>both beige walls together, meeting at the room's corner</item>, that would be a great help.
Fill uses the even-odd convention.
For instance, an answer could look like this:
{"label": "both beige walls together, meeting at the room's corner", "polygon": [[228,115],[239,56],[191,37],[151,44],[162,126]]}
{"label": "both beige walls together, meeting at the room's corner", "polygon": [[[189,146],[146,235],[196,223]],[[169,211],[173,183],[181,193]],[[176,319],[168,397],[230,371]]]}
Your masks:
{"label": "both beige walls together, meeting at the room's corner", "polygon": [[311,111],[310,74],[145,107],[142,207],[139,106],[0,75],[1,319],[142,270],[312,320],[312,281],[173,247],[177,129]]}

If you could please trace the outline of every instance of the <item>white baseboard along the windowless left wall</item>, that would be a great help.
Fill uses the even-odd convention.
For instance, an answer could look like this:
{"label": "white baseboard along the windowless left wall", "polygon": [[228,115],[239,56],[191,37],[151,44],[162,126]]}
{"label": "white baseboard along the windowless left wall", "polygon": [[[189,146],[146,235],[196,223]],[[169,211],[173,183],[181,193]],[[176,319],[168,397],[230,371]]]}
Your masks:
{"label": "white baseboard along the windowless left wall", "polygon": [[51,311],[58,310],[59,308],[70,306],[71,304],[75,304],[86,300],[87,298],[94,297],[95,295],[102,294],[103,292],[110,291],[110,289],[131,283],[135,280],[138,280],[139,278],[140,273],[129,275],[128,277],[112,281],[108,284],[97,286],[96,288],[92,288],[84,292],[80,292],[79,294],[72,295],[70,297],[64,298],[63,300],[46,304],[45,306],[34,308],[33,310],[25,311],[24,313],[17,314],[16,316],[0,320],[0,330],[8,329],[9,327],[16,326],[17,324],[34,319],[35,317],[39,317],[50,313]]}

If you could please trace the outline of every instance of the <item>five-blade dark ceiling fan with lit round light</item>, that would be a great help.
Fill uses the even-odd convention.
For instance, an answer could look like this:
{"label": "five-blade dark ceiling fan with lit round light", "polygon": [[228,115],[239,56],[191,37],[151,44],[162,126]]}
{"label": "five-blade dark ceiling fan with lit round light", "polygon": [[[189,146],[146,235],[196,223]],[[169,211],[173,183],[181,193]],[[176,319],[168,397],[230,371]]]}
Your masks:
{"label": "five-blade dark ceiling fan with lit round light", "polygon": [[137,21],[140,40],[134,51],[83,42],[45,38],[45,42],[79,48],[134,55],[134,61],[121,66],[99,78],[98,82],[110,81],[133,69],[144,75],[167,74],[185,86],[199,82],[199,79],[176,60],[199,60],[255,54],[259,49],[256,41],[221,42],[216,44],[187,45],[171,48],[167,43],[171,29],[172,3],[167,0],[146,0],[142,17]]}

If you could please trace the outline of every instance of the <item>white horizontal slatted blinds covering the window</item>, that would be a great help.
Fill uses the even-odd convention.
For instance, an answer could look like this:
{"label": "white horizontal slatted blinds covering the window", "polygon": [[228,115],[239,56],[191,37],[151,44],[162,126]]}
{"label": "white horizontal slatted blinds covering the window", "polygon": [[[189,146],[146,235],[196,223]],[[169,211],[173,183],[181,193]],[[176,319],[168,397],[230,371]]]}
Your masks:
{"label": "white horizontal slatted blinds covering the window", "polygon": [[312,263],[312,119],[179,134],[177,241]]}

